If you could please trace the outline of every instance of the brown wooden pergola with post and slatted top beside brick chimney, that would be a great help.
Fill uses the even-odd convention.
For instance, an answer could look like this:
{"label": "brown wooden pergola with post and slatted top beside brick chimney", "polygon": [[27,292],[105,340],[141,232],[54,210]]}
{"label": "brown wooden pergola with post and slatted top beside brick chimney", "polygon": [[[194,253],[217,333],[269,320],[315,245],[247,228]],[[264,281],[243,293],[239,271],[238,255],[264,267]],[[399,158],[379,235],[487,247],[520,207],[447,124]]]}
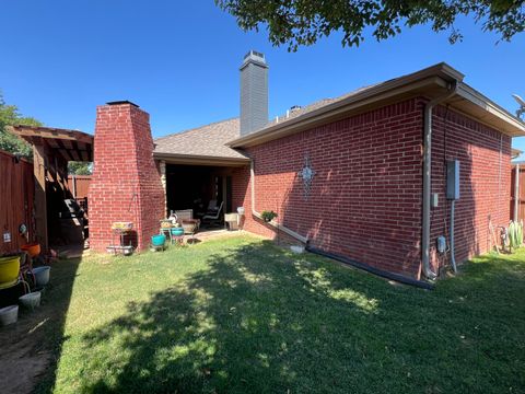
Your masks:
{"label": "brown wooden pergola with post and slatted top beside brick chimney", "polygon": [[40,126],[10,126],[8,130],[33,146],[35,176],[36,236],[48,248],[46,182],[63,187],[68,182],[68,162],[93,161],[93,136],[79,131]]}

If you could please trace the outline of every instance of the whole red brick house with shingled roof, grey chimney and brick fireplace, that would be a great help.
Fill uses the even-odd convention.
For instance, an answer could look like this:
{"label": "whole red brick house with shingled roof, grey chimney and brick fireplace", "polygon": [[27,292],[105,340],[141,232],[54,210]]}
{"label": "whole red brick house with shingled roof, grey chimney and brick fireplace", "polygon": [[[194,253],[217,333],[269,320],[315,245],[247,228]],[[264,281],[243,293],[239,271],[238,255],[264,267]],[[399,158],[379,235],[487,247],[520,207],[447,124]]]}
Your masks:
{"label": "whole red brick house with shingled roof, grey chimney and brick fireplace", "polygon": [[[143,248],[168,210],[221,196],[226,212],[245,208],[249,232],[279,231],[372,267],[434,278],[451,263],[451,252],[436,247],[443,235],[450,248],[447,162],[460,169],[454,240],[462,262],[489,251],[489,221],[506,223],[511,139],[525,135],[520,119],[463,79],[440,63],[268,121],[268,66],[250,51],[240,118],[153,141],[138,106],[101,106],[91,245],[104,250],[110,222],[131,220]],[[264,210],[279,216],[265,223]]]}

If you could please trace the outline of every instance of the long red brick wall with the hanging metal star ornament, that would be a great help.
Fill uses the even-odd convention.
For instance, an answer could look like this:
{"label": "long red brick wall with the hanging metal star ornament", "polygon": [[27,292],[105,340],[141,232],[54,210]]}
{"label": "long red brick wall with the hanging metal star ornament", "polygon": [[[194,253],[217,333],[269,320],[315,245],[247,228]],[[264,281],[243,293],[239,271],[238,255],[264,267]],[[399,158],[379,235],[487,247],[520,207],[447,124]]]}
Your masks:
{"label": "long red brick wall with the hanging metal star ornament", "polygon": [[[422,111],[410,100],[249,148],[256,209],[277,211],[280,222],[314,246],[416,276],[421,132]],[[298,175],[305,154],[316,172],[308,199]],[[249,171],[240,175],[234,199],[246,207],[245,229],[272,234],[252,219]]]}

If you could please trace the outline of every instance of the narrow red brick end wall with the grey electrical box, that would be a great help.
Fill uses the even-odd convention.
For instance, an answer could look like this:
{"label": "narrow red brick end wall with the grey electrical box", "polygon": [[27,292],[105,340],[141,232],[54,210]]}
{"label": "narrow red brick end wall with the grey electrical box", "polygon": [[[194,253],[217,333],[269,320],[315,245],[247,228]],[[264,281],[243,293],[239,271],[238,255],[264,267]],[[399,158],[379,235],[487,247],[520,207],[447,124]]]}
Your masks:
{"label": "narrow red brick end wall with the grey electrical box", "polygon": [[511,198],[511,137],[464,115],[439,107],[433,117],[432,192],[439,207],[432,210],[431,256],[434,268],[450,264],[450,255],[435,253],[435,239],[448,239],[450,208],[446,200],[446,161],[459,160],[459,200],[456,201],[456,262],[490,248],[489,217],[492,224],[506,225]]}

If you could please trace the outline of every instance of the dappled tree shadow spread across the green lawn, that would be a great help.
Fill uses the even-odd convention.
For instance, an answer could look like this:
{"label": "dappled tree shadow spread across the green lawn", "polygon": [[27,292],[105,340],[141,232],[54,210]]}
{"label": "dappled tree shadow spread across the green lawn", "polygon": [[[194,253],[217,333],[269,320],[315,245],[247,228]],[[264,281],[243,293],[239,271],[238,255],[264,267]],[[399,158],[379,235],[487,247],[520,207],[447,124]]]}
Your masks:
{"label": "dappled tree shadow spread across the green lawn", "polygon": [[[392,286],[266,242],[208,265],[88,333],[80,391],[497,392],[524,383],[515,348],[523,321],[517,332],[503,329],[506,343],[497,340],[498,318],[510,316],[505,298],[485,302],[479,315],[470,298],[479,283],[458,278],[434,292]],[[516,286],[510,294],[523,290]],[[523,317],[521,306],[512,318]]]}

